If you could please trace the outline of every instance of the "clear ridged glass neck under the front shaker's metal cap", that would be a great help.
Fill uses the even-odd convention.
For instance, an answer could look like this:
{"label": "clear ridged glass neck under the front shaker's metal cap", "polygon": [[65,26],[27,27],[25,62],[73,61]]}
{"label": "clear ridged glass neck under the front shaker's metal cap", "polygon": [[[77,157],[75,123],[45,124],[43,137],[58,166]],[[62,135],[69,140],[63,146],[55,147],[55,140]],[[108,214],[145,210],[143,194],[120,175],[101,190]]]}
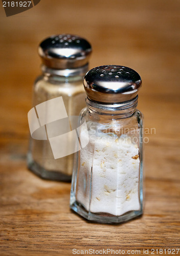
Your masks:
{"label": "clear ridged glass neck under the front shaker's metal cap", "polygon": [[87,109],[91,114],[110,116],[111,119],[128,118],[136,111],[138,95],[128,101],[120,103],[101,103],[86,97]]}

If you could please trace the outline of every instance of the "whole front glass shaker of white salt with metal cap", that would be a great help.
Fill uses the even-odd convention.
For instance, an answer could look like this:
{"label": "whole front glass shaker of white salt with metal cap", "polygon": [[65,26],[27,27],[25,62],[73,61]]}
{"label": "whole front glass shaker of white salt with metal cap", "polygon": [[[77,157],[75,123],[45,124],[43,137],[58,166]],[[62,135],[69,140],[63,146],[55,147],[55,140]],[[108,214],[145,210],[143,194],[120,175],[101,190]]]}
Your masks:
{"label": "whole front glass shaker of white salt with metal cap", "polygon": [[[79,117],[70,207],[87,220],[119,223],[143,212],[143,115],[140,75],[127,67],[88,71],[86,108]],[[86,125],[82,125],[86,123]]]}

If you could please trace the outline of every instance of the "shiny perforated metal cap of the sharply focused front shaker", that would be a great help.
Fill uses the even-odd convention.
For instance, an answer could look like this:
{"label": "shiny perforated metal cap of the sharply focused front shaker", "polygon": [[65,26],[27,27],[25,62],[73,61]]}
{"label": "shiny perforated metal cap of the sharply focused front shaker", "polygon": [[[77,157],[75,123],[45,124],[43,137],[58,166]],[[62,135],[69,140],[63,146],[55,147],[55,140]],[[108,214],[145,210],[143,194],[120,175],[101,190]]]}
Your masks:
{"label": "shiny perforated metal cap of the sharply focused front shaker", "polygon": [[138,95],[141,77],[133,69],[107,65],[89,70],[83,79],[84,89],[90,100],[101,103],[118,103]]}

